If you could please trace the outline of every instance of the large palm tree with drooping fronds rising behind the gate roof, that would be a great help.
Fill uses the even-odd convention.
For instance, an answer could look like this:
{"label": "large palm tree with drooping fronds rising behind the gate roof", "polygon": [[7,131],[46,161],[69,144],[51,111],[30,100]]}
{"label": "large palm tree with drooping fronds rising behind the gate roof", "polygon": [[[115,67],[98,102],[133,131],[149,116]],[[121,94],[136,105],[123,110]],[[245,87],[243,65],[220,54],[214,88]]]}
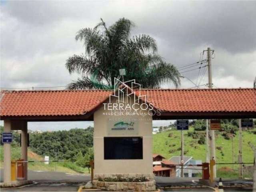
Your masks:
{"label": "large palm tree with drooping fronds rising behind the gate roof", "polygon": [[114,78],[120,78],[119,69],[126,69],[125,81],[135,79],[144,88],[180,85],[177,68],[156,54],[154,38],[145,34],[130,37],[132,27],[130,20],[121,18],[110,27],[101,19],[93,29],[80,29],[76,40],[84,42],[85,54],[68,58],[66,68],[82,78],[68,84],[68,89],[112,89]]}

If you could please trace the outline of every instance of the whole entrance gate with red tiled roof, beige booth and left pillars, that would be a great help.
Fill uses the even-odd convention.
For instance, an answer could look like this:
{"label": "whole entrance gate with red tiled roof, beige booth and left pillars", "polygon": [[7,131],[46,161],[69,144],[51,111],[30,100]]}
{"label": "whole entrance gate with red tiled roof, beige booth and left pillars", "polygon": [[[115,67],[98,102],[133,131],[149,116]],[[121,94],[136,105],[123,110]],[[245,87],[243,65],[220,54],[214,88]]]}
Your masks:
{"label": "whole entrance gate with red tiled roof, beige booth and left pillars", "polygon": [[[152,104],[157,112],[146,116],[124,115],[120,121],[113,120],[116,116],[108,112],[116,109],[106,108],[107,103],[113,102],[110,95],[115,95],[116,91],[112,90],[2,91],[0,118],[4,120],[4,132],[22,130],[21,157],[24,161],[28,159],[28,122],[94,120],[96,180],[116,174],[154,179],[152,120],[256,118],[256,89],[253,88],[132,91],[135,96],[131,103],[136,100]],[[131,93],[130,88],[121,94],[128,92]],[[134,122],[137,118],[144,120]],[[111,152],[108,146],[114,147],[114,151]],[[136,149],[135,155],[132,149]],[[27,180],[27,164],[24,164],[24,180]],[[4,143],[4,183],[11,183],[10,143]]]}

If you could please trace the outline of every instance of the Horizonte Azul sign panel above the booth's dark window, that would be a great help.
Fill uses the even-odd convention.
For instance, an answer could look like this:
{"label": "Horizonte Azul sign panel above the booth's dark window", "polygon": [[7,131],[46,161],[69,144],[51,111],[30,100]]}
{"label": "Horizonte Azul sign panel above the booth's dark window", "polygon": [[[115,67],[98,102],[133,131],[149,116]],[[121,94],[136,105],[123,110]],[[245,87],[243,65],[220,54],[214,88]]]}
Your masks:
{"label": "Horizonte Azul sign panel above the booth's dark window", "polygon": [[138,135],[138,122],[134,120],[111,120],[108,122],[108,135]]}

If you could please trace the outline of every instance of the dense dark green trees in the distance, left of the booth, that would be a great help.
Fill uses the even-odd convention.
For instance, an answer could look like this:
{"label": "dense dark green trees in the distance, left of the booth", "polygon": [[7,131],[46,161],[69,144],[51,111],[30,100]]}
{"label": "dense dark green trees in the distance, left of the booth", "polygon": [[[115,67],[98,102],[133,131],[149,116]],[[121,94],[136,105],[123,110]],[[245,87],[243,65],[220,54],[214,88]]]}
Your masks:
{"label": "dense dark green trees in the distance, left of the booth", "polygon": [[[1,126],[1,145],[3,130]],[[13,131],[12,136],[12,147],[20,147],[20,133]],[[50,160],[70,160],[80,167],[89,168],[89,162],[94,158],[93,127],[30,133],[29,147],[40,156],[50,156]]]}

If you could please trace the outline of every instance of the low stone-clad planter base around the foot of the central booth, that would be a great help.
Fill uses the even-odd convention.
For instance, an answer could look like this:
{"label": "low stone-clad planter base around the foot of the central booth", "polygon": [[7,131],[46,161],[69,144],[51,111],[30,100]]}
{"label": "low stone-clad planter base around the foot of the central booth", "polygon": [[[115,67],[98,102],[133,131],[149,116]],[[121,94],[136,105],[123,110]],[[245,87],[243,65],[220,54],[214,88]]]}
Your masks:
{"label": "low stone-clad planter base around the foot of the central booth", "polygon": [[[145,176],[149,181],[145,182],[106,182],[99,181],[99,178],[106,177],[142,177]],[[92,181],[94,188],[108,191],[155,191],[156,182],[154,174],[95,174]]]}

